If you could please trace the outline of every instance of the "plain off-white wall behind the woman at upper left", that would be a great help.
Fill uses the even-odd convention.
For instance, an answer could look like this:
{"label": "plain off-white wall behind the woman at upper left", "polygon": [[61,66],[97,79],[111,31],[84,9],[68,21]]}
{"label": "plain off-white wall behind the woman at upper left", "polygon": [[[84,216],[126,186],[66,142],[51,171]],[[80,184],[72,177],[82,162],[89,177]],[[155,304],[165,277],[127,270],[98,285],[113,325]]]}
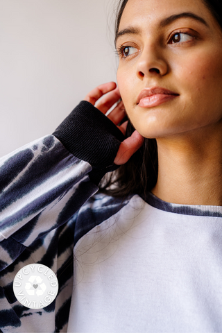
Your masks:
{"label": "plain off-white wall behind the woman at upper left", "polygon": [[116,81],[115,0],[0,0],[0,156]]}

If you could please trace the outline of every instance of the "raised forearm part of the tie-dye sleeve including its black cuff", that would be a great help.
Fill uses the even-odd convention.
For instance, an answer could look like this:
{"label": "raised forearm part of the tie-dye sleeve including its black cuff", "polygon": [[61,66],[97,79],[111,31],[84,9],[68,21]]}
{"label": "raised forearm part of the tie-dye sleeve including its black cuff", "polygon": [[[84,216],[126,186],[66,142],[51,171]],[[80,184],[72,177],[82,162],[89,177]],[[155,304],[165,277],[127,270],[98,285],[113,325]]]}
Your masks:
{"label": "raised forearm part of the tie-dye sleeve including its black cuff", "polygon": [[[58,228],[98,190],[114,169],[124,139],[116,126],[86,101],[47,135],[0,160],[0,241],[29,246]],[[7,249],[7,244],[3,246]],[[16,259],[1,255],[2,268]],[[6,260],[6,262],[5,262]]]}

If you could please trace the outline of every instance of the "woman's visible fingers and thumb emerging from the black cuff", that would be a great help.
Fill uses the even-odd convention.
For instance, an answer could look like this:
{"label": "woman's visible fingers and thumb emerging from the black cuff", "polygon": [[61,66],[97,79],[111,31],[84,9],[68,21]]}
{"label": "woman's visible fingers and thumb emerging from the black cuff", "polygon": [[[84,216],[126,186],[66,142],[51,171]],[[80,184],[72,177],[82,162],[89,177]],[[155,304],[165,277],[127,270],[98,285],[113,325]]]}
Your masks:
{"label": "woman's visible fingers and thumb emerging from the black cuff", "polygon": [[[108,94],[107,94],[108,93]],[[103,99],[101,99],[97,104],[101,96],[106,94]],[[108,112],[114,103],[117,103],[120,99],[119,88],[117,87],[116,83],[109,82],[104,83],[103,85],[99,85],[98,87],[94,88],[87,96],[85,96],[85,101],[92,103],[95,105],[97,109],[99,109],[103,114]],[[120,121],[125,117],[126,110],[124,108],[123,102],[121,101],[110,114],[108,114],[108,118],[117,125]],[[126,126],[128,121],[121,124],[121,126],[117,126],[119,130],[126,134]],[[137,130],[133,132],[133,134],[126,138],[123,142],[121,142],[119,146],[119,151],[117,152],[117,156],[114,159],[114,164],[121,165],[125,164],[130,157],[142,146],[144,142],[144,137],[140,135]]]}

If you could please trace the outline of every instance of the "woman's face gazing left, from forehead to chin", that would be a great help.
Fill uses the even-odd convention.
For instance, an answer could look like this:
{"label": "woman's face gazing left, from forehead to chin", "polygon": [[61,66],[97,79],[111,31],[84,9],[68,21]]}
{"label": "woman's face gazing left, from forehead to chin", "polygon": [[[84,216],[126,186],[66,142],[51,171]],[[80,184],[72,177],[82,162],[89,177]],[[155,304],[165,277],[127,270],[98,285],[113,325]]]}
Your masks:
{"label": "woman's face gazing left, from forehead to chin", "polygon": [[202,1],[128,0],[117,50],[119,90],[141,135],[222,127],[222,33]]}

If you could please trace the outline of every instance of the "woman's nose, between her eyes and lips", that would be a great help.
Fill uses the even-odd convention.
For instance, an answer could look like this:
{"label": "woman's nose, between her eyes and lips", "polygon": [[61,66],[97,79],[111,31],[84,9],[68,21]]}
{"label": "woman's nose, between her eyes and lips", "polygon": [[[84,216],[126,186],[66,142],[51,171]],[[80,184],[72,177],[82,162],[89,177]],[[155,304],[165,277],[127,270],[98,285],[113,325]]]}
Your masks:
{"label": "woman's nose, between her eyes and lips", "polygon": [[150,76],[164,76],[169,71],[167,61],[161,50],[155,46],[147,46],[142,51],[137,62],[137,76],[142,79]]}

